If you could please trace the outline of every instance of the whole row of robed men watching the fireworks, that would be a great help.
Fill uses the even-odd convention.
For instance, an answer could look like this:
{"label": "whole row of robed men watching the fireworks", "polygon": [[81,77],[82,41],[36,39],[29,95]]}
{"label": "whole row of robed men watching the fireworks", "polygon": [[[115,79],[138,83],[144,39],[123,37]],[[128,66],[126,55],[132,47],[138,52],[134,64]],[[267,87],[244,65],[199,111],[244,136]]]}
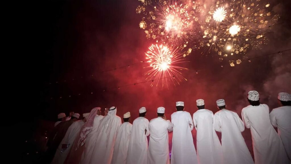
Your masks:
{"label": "whole row of robed men watching the fireworks", "polygon": [[[165,108],[157,108],[157,118],[148,121],[145,107],[139,117],[129,123],[130,112],[121,118],[116,107],[105,110],[96,107],[90,113],[65,114],[54,127],[47,142],[46,163],[100,163],[100,164],[169,164],[168,132],[173,131],[171,163],[290,163],[291,153],[291,95],[278,94],[278,104],[269,113],[266,104],[260,104],[259,93],[248,93],[249,106],[238,114],[226,109],[223,99],[217,100],[220,109],[213,114],[205,109],[202,99],[196,100],[198,111],[191,117],[184,111],[184,102],[176,102],[177,111],[171,121],[165,117]],[[65,119],[68,119],[65,121]],[[251,128],[254,159],[241,132]],[[278,127],[278,133],[273,127]],[[197,153],[191,130],[196,129]],[[216,132],[221,132],[221,142]],[[147,136],[150,135],[148,144]]]}

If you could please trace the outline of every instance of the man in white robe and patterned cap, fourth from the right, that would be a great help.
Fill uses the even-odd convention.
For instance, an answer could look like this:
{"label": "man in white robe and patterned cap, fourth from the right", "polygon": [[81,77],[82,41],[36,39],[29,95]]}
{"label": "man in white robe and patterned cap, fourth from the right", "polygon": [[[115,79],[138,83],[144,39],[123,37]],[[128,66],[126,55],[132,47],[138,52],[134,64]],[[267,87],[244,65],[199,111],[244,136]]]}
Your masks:
{"label": "man in white robe and patterned cap, fourth from the right", "polygon": [[193,123],[197,131],[197,158],[199,164],[223,163],[222,148],[213,128],[213,112],[205,109],[203,99],[196,100],[198,111],[193,114]]}

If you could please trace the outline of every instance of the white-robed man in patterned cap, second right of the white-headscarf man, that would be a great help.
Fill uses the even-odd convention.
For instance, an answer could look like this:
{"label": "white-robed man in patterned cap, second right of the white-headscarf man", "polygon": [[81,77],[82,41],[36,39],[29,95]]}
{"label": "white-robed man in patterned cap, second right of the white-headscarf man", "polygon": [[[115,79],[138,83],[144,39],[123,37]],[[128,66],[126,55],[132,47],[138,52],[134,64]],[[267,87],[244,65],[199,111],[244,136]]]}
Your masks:
{"label": "white-robed man in patterned cap, second right of the white-headscarf man", "polygon": [[148,151],[148,138],[150,130],[149,121],[145,118],[146,109],[139,109],[139,117],[133,121],[129,146],[127,151],[127,164],[146,164]]}

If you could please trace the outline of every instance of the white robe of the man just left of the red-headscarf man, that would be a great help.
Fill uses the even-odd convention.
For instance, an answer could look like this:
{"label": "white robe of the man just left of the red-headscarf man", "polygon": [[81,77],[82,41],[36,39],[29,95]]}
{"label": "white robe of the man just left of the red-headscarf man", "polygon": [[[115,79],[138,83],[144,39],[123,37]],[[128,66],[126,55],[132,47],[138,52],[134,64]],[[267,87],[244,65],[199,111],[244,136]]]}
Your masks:
{"label": "white robe of the man just left of the red-headscarf man", "polygon": [[[79,134],[82,126],[84,125],[84,122],[82,120],[79,121],[75,121],[74,123],[72,123],[72,125],[68,128],[65,137],[63,138],[63,140],[61,141],[60,145],[58,146],[58,149],[56,150],[56,154],[54,156],[54,159],[52,160],[52,163],[64,163],[65,159],[67,158],[73,143],[77,137],[77,135]],[[70,144],[70,146],[63,151],[62,149],[62,144]],[[63,153],[61,153],[61,151],[63,151]]]}

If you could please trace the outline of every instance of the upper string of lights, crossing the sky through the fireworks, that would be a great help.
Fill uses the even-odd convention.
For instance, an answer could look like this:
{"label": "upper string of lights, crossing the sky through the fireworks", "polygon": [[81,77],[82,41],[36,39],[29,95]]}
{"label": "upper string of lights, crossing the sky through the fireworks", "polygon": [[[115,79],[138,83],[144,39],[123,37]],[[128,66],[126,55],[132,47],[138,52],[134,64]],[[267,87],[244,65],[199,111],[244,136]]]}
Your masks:
{"label": "upper string of lights, crossing the sky through the fireworks", "polygon": [[[266,29],[266,28],[271,28],[271,27],[274,27],[274,26],[276,26],[276,25],[281,25],[281,24],[283,24],[283,23],[285,23],[285,22],[290,22],[290,20],[284,20],[284,21],[282,21],[282,22],[280,22],[280,23],[276,23],[276,24],[274,24],[274,25],[270,25],[270,26],[268,26],[268,27],[264,27],[264,28],[256,29],[256,31],[258,31],[258,30],[262,30],[262,29]],[[198,42],[203,41],[203,40],[208,40],[208,39],[202,39],[202,40],[199,40]],[[197,47],[196,47],[196,48],[197,48]],[[196,49],[196,48],[192,48],[192,49]],[[136,62],[136,63],[133,63],[133,64],[127,64],[127,65],[124,65],[124,66],[121,66],[121,67],[116,67],[116,68],[113,68],[113,69],[104,70],[104,71],[102,71],[101,73],[106,73],[106,72],[110,72],[110,71],[115,71],[115,70],[118,70],[118,69],[129,68],[130,66],[137,65],[137,64],[141,64],[141,63],[147,63],[147,62],[146,62],[146,61],[141,61],[141,62]],[[93,76],[94,76],[94,75],[91,74],[91,77],[93,77]],[[80,78],[83,78],[83,76],[81,76]],[[72,78],[72,81],[75,81],[76,79],[77,79],[77,78]],[[61,83],[61,82],[66,83],[66,82],[68,82],[68,80],[59,80],[59,81],[56,81],[55,83],[50,82],[50,83],[48,83],[48,84],[49,84],[49,85],[51,85],[51,84],[58,84],[58,83]]]}

